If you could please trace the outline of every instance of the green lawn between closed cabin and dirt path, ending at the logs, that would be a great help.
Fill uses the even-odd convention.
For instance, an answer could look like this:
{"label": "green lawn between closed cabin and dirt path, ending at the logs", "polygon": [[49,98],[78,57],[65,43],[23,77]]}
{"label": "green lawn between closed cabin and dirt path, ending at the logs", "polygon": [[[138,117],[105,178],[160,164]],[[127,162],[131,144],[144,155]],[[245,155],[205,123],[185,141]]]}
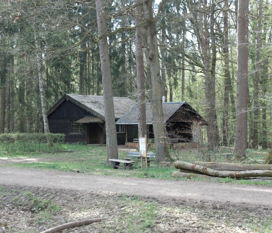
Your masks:
{"label": "green lawn between closed cabin and dirt path, ending at the logs", "polygon": [[[79,170],[82,173],[94,175],[116,175],[129,176],[139,178],[157,178],[157,179],[172,179],[171,173],[175,169],[158,168],[155,162],[151,164],[149,169],[141,169],[140,163],[134,164],[133,170],[112,169],[111,165],[106,162],[106,147],[105,146],[87,146],[82,144],[64,144],[62,148],[70,152],[58,153],[9,153],[1,154],[2,158],[19,159],[20,162],[12,164],[16,167],[29,167],[40,169],[57,169],[60,171]],[[119,158],[126,157],[125,151],[119,152]],[[34,159],[34,162],[22,161],[26,159]]]}

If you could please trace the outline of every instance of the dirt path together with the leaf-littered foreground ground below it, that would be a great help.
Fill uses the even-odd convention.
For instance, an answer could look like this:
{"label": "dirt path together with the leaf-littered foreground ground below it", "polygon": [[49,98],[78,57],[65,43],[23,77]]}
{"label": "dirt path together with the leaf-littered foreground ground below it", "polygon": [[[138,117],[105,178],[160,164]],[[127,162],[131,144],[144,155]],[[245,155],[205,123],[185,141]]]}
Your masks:
{"label": "dirt path together with the leaf-littered foreground ground below it", "polygon": [[0,160],[0,233],[87,218],[105,220],[62,233],[272,232],[271,186],[95,176],[13,162]]}

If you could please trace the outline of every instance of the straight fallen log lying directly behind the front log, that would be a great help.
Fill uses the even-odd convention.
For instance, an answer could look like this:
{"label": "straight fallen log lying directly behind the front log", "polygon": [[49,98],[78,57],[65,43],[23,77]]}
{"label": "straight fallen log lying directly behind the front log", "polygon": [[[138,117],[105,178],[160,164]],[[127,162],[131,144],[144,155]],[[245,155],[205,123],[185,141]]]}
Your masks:
{"label": "straight fallen log lying directly behind the front log", "polygon": [[250,170],[268,170],[272,171],[271,164],[246,164],[246,163],[231,163],[231,162],[201,162],[195,161],[193,164],[201,165],[219,171],[250,171]]}

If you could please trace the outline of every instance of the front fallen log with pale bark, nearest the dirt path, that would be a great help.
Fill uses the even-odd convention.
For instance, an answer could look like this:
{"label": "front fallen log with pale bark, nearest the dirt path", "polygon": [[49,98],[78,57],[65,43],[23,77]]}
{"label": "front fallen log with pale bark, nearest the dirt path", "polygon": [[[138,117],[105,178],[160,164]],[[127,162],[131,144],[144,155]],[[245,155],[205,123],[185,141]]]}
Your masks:
{"label": "front fallen log with pale bark, nearest the dirt path", "polygon": [[272,177],[272,171],[260,171],[260,170],[252,170],[252,171],[217,171],[211,168],[207,168],[201,165],[196,165],[183,161],[175,161],[174,166],[177,169],[185,169],[189,171],[200,172],[201,174],[211,176],[211,177],[221,177],[221,178],[245,178],[245,177]]}

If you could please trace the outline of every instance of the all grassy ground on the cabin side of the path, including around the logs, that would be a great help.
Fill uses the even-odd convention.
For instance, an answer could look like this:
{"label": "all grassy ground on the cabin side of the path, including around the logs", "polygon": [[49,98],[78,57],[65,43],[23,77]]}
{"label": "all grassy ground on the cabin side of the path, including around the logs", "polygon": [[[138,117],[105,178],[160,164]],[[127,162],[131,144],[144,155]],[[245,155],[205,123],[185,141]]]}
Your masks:
{"label": "all grassy ground on the cabin side of the path, including around the logs", "polygon": [[[127,151],[132,148],[124,146],[119,147],[119,159],[126,158]],[[221,148],[221,153],[225,153],[227,149]],[[140,163],[134,164],[133,170],[112,169],[111,165],[106,163],[106,147],[98,145],[83,144],[63,144],[62,151],[55,153],[44,152],[13,152],[6,153],[2,150],[0,153],[1,160],[13,160],[8,163],[9,166],[57,169],[61,171],[80,171],[82,173],[93,175],[114,175],[139,178],[155,178],[155,179],[176,179],[171,174],[176,171],[174,167],[159,167],[157,163],[151,162],[149,169],[141,169]],[[204,161],[205,153],[203,149],[180,149],[179,151],[170,150],[173,159],[181,161]],[[267,151],[264,150],[247,150],[246,163],[263,163]],[[225,156],[212,156],[215,161],[228,161]],[[241,182],[233,179],[221,179],[220,182]],[[248,184],[254,184],[254,181],[242,181]],[[259,184],[259,182],[258,182]],[[263,182],[263,184],[271,185],[272,182]]]}

